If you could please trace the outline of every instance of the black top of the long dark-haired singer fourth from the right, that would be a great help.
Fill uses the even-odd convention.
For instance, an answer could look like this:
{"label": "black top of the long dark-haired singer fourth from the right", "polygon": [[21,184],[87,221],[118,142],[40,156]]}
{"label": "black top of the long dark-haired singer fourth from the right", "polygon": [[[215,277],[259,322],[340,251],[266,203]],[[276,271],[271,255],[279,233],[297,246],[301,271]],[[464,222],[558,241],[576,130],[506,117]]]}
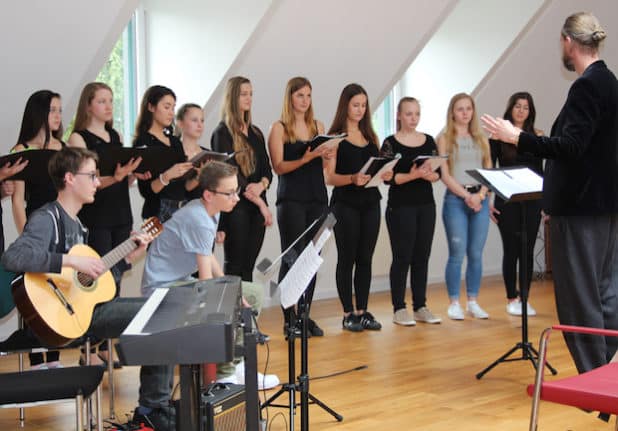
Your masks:
{"label": "black top of the long dark-haired singer fourth from the right", "polygon": [[[369,142],[364,147],[358,147],[347,139],[339,143],[337,149],[337,167],[335,173],[339,175],[353,175],[361,170],[370,157],[378,157],[378,147]],[[382,196],[377,187],[365,188],[355,184],[339,186],[333,189],[331,205],[335,202],[343,202],[356,208],[371,207],[378,205]]]}

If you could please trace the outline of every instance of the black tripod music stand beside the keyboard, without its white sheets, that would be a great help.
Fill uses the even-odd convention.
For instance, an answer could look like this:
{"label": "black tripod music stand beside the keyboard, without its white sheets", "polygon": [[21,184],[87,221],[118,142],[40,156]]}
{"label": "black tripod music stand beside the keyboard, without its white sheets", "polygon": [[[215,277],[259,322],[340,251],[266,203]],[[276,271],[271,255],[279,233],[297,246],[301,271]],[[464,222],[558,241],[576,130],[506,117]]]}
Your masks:
{"label": "black tripod music stand beside the keyboard, without its white sheets", "polygon": [[[323,244],[323,240],[322,241],[320,240],[321,238],[323,238],[322,235],[327,230],[332,231],[332,227],[335,225],[335,223],[336,223],[335,217],[333,216],[332,213],[329,213],[326,216],[326,219],[324,220],[324,222],[322,223],[322,226],[320,227],[318,232],[315,234],[310,246],[319,245],[320,243]],[[294,241],[293,244],[295,244],[298,240],[300,240],[300,238],[302,238],[314,224],[315,222],[307,230],[305,230],[305,232],[303,232],[300,235],[300,237]],[[319,245],[318,247],[321,247],[321,245]],[[290,249],[291,247],[285,250],[283,254],[286,254],[288,251],[290,251]],[[300,264],[301,262],[297,261],[296,263],[294,263],[294,265],[292,265],[292,268],[290,268],[290,271],[293,270],[293,267],[297,263]],[[258,265],[258,269],[260,269],[259,267],[264,267],[264,266],[267,266],[267,268],[265,268],[265,270],[262,272],[268,272],[267,270],[272,269],[273,264],[265,265],[264,262],[261,262],[260,265]],[[325,410],[327,413],[329,413],[331,416],[333,416],[335,419],[337,419],[337,421],[339,422],[343,420],[343,416],[341,416],[339,413],[331,409],[329,406],[324,404],[322,401],[317,399],[313,394],[309,392],[309,355],[308,355],[308,352],[309,352],[308,338],[309,337],[308,337],[308,334],[309,334],[309,305],[310,304],[307,303],[307,297],[306,297],[307,290],[306,289],[307,289],[307,286],[305,286],[305,288],[303,289],[300,299],[297,301],[294,301],[295,303],[298,302],[298,311],[296,313],[296,316],[297,316],[296,320],[289,319],[288,326],[286,327],[287,339],[288,339],[288,382],[284,383],[281,386],[281,389],[279,389],[274,395],[268,398],[261,406],[262,409],[268,406],[289,409],[290,431],[294,431],[294,417],[296,415],[296,407],[298,407],[299,405],[298,403],[296,403],[296,392],[300,392],[300,428],[301,428],[301,431],[309,430],[309,404],[318,405],[323,410]],[[301,355],[300,356],[300,368],[301,370],[300,370],[300,374],[298,375],[298,382],[296,378],[296,346],[295,346],[296,344],[295,341],[297,338],[297,334],[295,334],[295,330],[296,330],[297,323],[301,324],[301,335],[300,335],[300,355]],[[283,395],[286,392],[289,394],[288,404],[274,404],[274,401],[277,398],[279,398],[279,396]]]}

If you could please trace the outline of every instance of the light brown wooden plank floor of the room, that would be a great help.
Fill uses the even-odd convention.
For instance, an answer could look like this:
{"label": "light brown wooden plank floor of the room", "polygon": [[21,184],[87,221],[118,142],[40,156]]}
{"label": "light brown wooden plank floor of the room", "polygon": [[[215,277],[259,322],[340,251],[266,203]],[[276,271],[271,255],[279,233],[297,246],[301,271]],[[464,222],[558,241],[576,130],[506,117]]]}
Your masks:
{"label": "light brown wooden plank floor of the room", "polygon": [[[531,303],[538,316],[530,319],[530,339],[538,347],[541,330],[556,323],[551,281],[535,282]],[[484,280],[479,303],[490,313],[481,321],[463,322],[446,318],[447,296],[443,285],[430,286],[429,306],[444,318],[440,325],[419,323],[400,327],[391,323],[388,293],[373,294],[370,311],[382,322],[380,332],[359,334],[341,330],[341,309],[336,299],[316,301],[312,316],[326,331],[323,338],[309,343],[312,378],[352,370],[335,377],[311,382],[311,393],[340,413],[335,421],[318,406],[310,407],[312,430],[425,430],[478,431],[526,430],[530,398],[525,393],[533,380],[529,362],[500,364],[483,379],[475,375],[515,345],[521,337],[520,319],[505,312],[504,288],[499,278]],[[269,349],[260,347],[260,367],[268,366],[287,380],[287,344],[282,336],[282,317],[278,307],[264,310],[260,317],[263,332],[271,335]],[[550,346],[550,360],[559,376],[575,373],[560,336]],[[62,354],[62,361],[74,364],[75,352]],[[15,358],[2,358],[0,370],[17,367]],[[138,369],[125,367],[115,374],[116,412],[124,418],[135,406]],[[107,384],[104,380],[104,392]],[[268,391],[273,394],[274,391]],[[287,403],[287,395],[280,398]],[[104,400],[107,406],[107,399]],[[26,411],[26,430],[73,429],[73,405],[56,404]],[[288,410],[269,408],[268,429],[286,430]],[[298,411],[296,427],[299,427]],[[539,430],[595,431],[613,429],[578,409],[542,404]],[[0,409],[0,430],[17,428],[17,410]]]}

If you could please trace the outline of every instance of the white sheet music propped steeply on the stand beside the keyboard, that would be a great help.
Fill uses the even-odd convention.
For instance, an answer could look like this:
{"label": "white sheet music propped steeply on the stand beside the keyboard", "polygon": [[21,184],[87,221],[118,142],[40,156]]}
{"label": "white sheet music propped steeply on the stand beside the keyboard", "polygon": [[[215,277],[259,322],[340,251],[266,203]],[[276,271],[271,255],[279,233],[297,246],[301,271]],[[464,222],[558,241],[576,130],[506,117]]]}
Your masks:
{"label": "white sheet music propped steeply on the stand beside the keyboard", "polygon": [[309,282],[318,272],[322,262],[324,260],[318,254],[318,249],[313,245],[313,242],[309,242],[279,283],[283,308],[291,307],[298,302]]}

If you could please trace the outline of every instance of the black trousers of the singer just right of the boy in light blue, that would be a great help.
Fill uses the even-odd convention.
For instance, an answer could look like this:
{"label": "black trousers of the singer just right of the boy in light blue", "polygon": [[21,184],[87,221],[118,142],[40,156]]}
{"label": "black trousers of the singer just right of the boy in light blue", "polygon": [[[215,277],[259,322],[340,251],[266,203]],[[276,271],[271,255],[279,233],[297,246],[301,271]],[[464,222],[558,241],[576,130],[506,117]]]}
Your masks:
{"label": "black trousers of the singer just right of the boy in light blue", "polygon": [[253,281],[253,268],[264,242],[264,217],[257,206],[246,200],[238,202],[225,215],[225,262],[223,272]]}

